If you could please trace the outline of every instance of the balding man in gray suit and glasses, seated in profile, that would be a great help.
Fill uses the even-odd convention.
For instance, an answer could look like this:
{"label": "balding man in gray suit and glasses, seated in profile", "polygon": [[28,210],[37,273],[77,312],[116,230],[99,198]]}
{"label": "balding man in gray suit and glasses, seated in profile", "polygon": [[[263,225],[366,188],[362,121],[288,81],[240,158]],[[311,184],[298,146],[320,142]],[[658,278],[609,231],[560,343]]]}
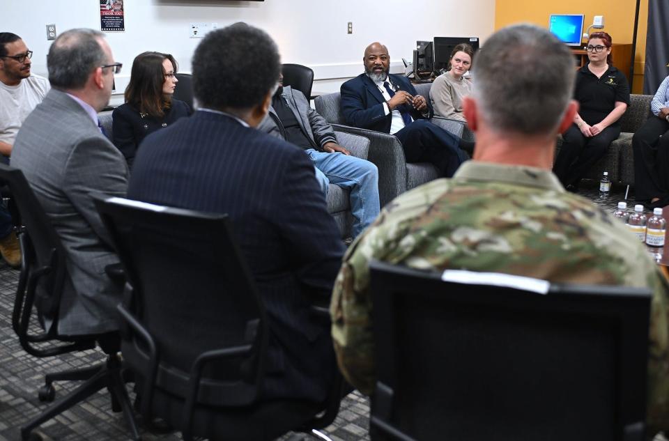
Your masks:
{"label": "balding man in gray suit and glasses, seated in profile", "polygon": [[121,64],[102,33],[72,29],[54,41],[47,67],[52,90],[22,125],[11,165],[23,171],[66,249],[59,334],[111,332],[118,330],[121,286],[105,267],[118,258],[91,195],[125,196],[128,187],[123,155],[102,134],[97,116]]}

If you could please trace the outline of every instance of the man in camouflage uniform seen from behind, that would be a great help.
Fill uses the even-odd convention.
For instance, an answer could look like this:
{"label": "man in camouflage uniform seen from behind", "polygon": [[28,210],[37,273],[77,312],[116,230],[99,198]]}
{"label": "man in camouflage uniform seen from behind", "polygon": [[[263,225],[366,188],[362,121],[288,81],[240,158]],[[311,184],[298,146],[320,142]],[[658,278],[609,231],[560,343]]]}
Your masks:
{"label": "man in camouflage uniform seen from behind", "polygon": [[503,272],[553,282],[652,289],[648,415],[669,428],[666,281],[625,226],[551,173],[555,138],[574,120],[569,49],[530,25],[495,33],[477,58],[464,114],[473,160],[452,179],[399,196],[348,249],[334,286],[332,338],[344,376],[374,390],[369,261]]}

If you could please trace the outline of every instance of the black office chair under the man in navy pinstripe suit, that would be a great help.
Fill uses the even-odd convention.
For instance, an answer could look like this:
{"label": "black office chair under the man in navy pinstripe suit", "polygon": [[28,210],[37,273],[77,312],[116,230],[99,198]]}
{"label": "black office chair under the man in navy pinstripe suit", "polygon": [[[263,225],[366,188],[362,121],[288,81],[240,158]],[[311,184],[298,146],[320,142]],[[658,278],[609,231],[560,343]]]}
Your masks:
{"label": "black office chair under the man in navy pinstripe suit", "polygon": [[267,318],[226,215],[96,203],[128,276],[122,353],[144,418],[160,417],[187,441],[273,440],[333,421],[341,382],[326,403],[258,401]]}

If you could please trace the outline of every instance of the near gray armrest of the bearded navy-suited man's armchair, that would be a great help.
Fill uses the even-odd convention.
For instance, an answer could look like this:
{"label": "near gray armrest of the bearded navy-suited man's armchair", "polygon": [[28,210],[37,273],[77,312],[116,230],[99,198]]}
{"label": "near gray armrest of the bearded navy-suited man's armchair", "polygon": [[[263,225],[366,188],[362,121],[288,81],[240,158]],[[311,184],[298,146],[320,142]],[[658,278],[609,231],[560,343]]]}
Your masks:
{"label": "near gray armrest of the bearded navy-suited man's armchair", "polygon": [[399,139],[392,134],[332,124],[336,132],[357,134],[369,139],[367,160],[378,168],[378,196],[381,207],[406,192],[406,157]]}

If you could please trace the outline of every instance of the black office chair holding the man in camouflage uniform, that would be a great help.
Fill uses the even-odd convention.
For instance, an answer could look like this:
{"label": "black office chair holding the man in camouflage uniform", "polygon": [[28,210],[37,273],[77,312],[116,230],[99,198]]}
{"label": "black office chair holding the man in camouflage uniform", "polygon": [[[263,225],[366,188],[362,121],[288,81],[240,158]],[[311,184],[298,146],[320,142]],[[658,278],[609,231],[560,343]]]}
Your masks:
{"label": "black office chair holding the man in camouflage uniform", "polygon": [[647,289],[455,274],[371,264],[371,440],[643,440]]}

